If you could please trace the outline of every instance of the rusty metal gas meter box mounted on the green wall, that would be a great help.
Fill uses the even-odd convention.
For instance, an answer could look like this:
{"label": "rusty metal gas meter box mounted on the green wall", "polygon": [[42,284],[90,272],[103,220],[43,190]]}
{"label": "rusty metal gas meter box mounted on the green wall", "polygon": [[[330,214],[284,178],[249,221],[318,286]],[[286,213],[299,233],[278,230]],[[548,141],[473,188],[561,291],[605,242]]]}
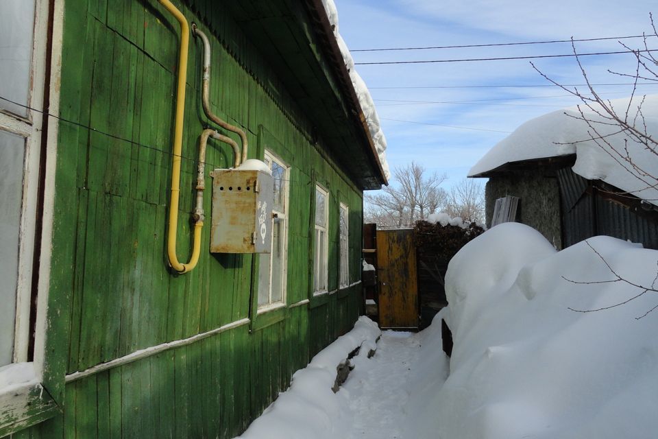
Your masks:
{"label": "rusty metal gas meter box mounted on the green wall", "polygon": [[210,252],[269,253],[274,182],[257,170],[215,169]]}

